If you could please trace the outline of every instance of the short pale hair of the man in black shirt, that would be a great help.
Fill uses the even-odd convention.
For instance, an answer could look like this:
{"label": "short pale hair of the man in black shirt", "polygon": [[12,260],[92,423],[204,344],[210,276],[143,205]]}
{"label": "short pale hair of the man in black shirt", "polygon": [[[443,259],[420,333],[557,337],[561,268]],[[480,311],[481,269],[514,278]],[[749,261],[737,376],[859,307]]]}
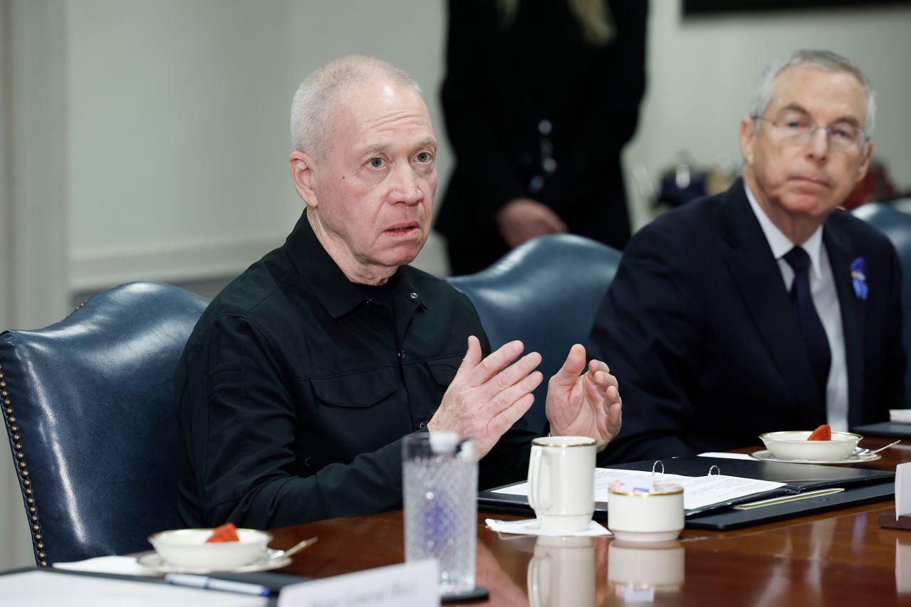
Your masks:
{"label": "short pale hair of the man in black shirt", "polygon": [[388,77],[396,84],[417,86],[414,77],[382,59],[346,55],[333,59],[307,77],[294,93],[291,106],[292,148],[322,158],[332,130],[335,96],[339,90],[375,77]]}

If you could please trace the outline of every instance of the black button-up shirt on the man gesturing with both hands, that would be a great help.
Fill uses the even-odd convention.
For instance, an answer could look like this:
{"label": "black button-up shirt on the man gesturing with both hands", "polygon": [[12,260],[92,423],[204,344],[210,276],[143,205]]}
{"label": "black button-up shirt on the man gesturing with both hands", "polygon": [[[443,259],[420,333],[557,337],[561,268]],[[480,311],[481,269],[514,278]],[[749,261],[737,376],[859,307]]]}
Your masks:
{"label": "black button-up shirt on the man gesturing with both hands", "polygon": [[[179,518],[266,529],[400,508],[404,435],[425,428],[486,335],[475,308],[409,266],[368,301],[317,241],[306,212],[288,240],[202,314],[175,377]],[[479,484],[527,474],[520,420],[481,461]]]}

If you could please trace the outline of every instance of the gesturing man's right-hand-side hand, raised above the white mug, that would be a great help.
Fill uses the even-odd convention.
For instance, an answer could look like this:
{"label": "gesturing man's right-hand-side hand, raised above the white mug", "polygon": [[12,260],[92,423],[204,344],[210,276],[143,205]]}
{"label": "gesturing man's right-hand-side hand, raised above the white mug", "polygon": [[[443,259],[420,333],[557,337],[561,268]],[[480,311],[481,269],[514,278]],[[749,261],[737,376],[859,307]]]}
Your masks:
{"label": "gesturing man's right-hand-side hand, raised above the white mug", "polygon": [[574,345],[567,360],[550,378],[546,405],[550,431],[561,436],[592,437],[598,450],[620,431],[620,393],[617,378],[599,360],[585,368],[585,346]]}

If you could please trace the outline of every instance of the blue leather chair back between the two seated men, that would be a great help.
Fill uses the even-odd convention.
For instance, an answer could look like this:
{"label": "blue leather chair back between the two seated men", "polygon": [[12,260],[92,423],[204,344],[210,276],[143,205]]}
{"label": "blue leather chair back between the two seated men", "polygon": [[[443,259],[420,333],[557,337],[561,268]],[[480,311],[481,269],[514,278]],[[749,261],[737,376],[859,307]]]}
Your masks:
{"label": "blue leather chair back between the two seated men", "polygon": [[466,293],[494,349],[514,339],[537,351],[544,382],[526,417],[544,428],[548,379],[573,344],[586,344],[620,253],[582,236],[557,234],[525,242],[486,270],[447,280]]}

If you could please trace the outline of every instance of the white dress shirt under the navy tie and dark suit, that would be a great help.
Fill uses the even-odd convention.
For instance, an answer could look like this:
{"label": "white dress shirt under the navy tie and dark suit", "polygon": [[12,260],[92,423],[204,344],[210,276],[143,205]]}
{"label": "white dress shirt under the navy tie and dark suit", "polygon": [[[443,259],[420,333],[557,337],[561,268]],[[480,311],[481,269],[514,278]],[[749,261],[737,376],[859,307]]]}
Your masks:
{"label": "white dress shirt under the navy tie and dark suit", "polygon": [[[743,190],[746,190],[746,197],[750,201],[752,212],[759,220],[765,239],[769,242],[772,254],[778,262],[784,287],[790,293],[794,272],[791,265],[784,260],[784,254],[793,249],[794,243],[769,219],[745,183]],[[810,256],[810,293],[813,295],[813,304],[816,307],[816,314],[819,314],[819,319],[823,322],[825,336],[829,340],[829,350],[832,353],[829,381],[825,385],[826,418],[833,430],[846,432],[848,429],[848,369],[844,355],[842,310],[838,304],[838,293],[835,291],[832,263],[829,262],[829,254],[823,246],[823,226],[816,228],[813,235],[802,246]]]}

